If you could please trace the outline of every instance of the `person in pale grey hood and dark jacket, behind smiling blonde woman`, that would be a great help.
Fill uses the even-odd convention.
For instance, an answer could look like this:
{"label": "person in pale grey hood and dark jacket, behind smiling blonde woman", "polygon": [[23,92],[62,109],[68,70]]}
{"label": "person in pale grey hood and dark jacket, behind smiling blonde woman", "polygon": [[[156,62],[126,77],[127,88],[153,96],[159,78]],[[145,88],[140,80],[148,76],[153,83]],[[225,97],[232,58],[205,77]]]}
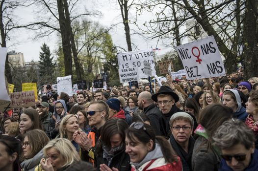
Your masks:
{"label": "person in pale grey hood and dark jacket, behind smiling blonde woman", "polygon": [[66,116],[66,113],[67,108],[65,101],[62,99],[57,100],[54,104],[54,113],[50,119],[48,130],[46,131],[46,134],[50,139],[54,139],[58,134],[59,124],[61,119]]}

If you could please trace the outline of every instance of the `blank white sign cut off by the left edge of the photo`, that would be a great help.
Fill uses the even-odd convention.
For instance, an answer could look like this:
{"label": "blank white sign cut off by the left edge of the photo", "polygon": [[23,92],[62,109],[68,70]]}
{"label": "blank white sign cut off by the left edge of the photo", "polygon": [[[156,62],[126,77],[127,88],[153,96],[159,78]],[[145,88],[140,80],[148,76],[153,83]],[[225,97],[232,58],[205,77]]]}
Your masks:
{"label": "blank white sign cut off by the left edge of the photo", "polygon": [[11,101],[8,92],[9,89],[5,85],[4,66],[6,60],[7,48],[0,47],[0,100]]}

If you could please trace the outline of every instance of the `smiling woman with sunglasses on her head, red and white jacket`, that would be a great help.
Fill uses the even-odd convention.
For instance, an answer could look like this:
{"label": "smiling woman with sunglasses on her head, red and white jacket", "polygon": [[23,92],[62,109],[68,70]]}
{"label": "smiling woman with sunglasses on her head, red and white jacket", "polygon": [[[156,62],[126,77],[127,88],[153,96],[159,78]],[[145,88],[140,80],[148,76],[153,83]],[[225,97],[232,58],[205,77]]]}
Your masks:
{"label": "smiling woman with sunglasses on her head, red and white jacket", "polygon": [[126,130],[126,153],[130,156],[131,171],[181,171],[180,158],[168,141],[155,136],[153,128],[134,122]]}

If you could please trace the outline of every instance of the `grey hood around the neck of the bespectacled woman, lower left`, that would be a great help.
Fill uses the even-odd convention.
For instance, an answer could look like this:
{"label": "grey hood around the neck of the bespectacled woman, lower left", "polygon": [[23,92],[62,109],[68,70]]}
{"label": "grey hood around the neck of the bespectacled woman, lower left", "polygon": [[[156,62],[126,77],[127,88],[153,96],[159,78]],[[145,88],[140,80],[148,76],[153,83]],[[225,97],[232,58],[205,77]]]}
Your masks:
{"label": "grey hood around the neck of the bespectacled woman, lower left", "polygon": [[40,150],[33,158],[26,159],[21,163],[23,171],[34,171],[40,160],[44,157],[43,150]]}

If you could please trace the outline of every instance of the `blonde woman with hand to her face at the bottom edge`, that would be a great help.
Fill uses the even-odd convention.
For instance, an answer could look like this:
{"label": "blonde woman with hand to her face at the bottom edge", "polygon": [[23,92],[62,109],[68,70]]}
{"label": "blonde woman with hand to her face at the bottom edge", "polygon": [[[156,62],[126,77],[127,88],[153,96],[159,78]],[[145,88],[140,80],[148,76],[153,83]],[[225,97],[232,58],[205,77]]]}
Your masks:
{"label": "blonde woman with hand to her face at the bottom edge", "polygon": [[73,144],[65,138],[50,141],[43,149],[44,157],[40,161],[44,171],[65,171],[80,161]]}

